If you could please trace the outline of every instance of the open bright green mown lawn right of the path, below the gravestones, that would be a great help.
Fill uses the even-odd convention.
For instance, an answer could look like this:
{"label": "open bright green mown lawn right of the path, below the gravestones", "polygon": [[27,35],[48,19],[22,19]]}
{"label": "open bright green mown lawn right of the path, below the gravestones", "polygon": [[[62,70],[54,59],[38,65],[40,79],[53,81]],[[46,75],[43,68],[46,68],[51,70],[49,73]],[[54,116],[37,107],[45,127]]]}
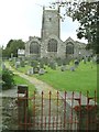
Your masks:
{"label": "open bright green mown lawn right of the path, below the gravestones", "polygon": [[90,96],[94,96],[94,91],[97,89],[96,64],[81,62],[75,72],[61,72],[61,69],[53,70],[51,68],[47,68],[47,72],[45,75],[35,75],[35,77],[46,81],[57,90],[81,91],[84,95],[88,90]]}

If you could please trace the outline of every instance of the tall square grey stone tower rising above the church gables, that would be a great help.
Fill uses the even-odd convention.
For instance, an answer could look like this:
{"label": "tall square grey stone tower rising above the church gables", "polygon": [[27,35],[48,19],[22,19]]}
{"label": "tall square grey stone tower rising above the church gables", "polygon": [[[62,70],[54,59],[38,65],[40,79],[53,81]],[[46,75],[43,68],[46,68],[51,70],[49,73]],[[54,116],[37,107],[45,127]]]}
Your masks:
{"label": "tall square grey stone tower rising above the church gables", "polygon": [[42,32],[41,36],[43,40],[47,38],[50,35],[56,35],[59,38],[61,24],[59,24],[59,10],[45,10],[43,8],[42,18]]}

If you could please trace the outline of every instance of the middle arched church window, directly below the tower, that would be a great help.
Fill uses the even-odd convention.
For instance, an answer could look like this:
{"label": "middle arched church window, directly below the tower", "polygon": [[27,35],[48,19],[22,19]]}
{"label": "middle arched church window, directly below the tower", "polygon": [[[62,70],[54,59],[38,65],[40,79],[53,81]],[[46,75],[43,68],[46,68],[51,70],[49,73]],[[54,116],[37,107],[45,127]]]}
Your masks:
{"label": "middle arched church window, directly below the tower", "polygon": [[48,41],[47,52],[57,52],[57,41],[56,40],[51,38]]}

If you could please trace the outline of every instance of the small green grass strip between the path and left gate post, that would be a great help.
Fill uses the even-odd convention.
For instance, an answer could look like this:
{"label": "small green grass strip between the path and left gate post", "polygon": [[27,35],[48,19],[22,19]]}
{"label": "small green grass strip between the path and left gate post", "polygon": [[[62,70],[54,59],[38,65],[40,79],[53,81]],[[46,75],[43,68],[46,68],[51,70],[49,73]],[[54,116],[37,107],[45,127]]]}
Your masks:
{"label": "small green grass strip between the path and left gate post", "polygon": [[24,79],[18,75],[14,75],[13,79],[14,79],[15,85],[28,85],[29,86],[29,97],[33,96],[35,87],[32,84],[30,84],[26,79]]}

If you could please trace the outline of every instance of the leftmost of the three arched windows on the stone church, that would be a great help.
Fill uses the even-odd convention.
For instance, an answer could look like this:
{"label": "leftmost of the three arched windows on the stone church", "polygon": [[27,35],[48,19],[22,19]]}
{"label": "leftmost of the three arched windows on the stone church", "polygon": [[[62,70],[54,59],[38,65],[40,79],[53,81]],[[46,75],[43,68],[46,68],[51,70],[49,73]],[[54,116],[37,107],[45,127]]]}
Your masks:
{"label": "leftmost of the three arched windows on the stone church", "polygon": [[30,44],[30,54],[38,54],[40,53],[40,45],[37,42],[32,42]]}

